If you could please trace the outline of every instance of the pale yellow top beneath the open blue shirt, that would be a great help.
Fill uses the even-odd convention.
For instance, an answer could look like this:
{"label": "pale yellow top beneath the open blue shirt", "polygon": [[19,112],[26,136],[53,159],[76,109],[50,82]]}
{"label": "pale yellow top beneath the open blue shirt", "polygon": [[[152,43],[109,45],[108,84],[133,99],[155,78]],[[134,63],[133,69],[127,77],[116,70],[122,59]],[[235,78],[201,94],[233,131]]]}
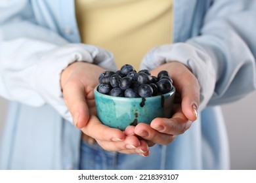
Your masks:
{"label": "pale yellow top beneath the open blue shirt", "polygon": [[172,39],[173,1],[75,0],[81,41],[109,50],[117,67],[131,64],[137,71],[154,46]]}

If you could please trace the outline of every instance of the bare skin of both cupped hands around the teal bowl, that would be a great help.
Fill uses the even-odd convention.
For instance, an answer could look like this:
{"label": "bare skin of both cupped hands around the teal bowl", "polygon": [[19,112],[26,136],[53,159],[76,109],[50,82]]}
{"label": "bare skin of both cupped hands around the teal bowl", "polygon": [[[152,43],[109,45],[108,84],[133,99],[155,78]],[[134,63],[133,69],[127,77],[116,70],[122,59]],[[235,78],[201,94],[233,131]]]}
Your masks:
{"label": "bare skin of both cupped hands around the teal bowl", "polygon": [[121,131],[101,124],[96,118],[93,90],[104,69],[91,63],[72,63],[62,72],[60,84],[75,126],[105,150],[124,154],[149,156],[150,146],[171,143],[196,120],[200,86],[191,71],[181,63],[161,65],[152,70],[152,75],[157,76],[161,70],[169,72],[179,96],[173,117],[156,118],[150,125],[129,126]]}

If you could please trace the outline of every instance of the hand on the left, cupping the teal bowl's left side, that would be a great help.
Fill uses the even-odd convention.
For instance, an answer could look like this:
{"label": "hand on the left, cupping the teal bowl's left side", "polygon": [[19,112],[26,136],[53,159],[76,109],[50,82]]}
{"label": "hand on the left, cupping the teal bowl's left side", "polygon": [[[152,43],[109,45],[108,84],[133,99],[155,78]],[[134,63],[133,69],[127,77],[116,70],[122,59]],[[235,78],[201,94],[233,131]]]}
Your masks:
{"label": "hand on the left, cupping the teal bowl's left side", "polygon": [[125,136],[123,131],[103,125],[96,117],[93,90],[103,71],[91,63],[75,62],[62,72],[60,84],[63,98],[75,126],[105,150],[148,156],[149,148],[145,141],[135,135]]}

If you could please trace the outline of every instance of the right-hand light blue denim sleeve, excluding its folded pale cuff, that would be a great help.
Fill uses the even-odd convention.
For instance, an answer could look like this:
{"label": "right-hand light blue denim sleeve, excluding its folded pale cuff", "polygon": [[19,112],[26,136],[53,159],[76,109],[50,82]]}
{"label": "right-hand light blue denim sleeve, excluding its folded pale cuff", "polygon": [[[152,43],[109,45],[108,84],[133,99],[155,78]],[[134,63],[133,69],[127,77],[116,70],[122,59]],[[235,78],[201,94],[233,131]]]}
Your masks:
{"label": "right-hand light blue denim sleeve, excluding its folded pale cuff", "polygon": [[256,88],[256,1],[217,0],[209,8],[198,37],[187,43],[205,52],[216,83],[208,105],[241,99]]}

